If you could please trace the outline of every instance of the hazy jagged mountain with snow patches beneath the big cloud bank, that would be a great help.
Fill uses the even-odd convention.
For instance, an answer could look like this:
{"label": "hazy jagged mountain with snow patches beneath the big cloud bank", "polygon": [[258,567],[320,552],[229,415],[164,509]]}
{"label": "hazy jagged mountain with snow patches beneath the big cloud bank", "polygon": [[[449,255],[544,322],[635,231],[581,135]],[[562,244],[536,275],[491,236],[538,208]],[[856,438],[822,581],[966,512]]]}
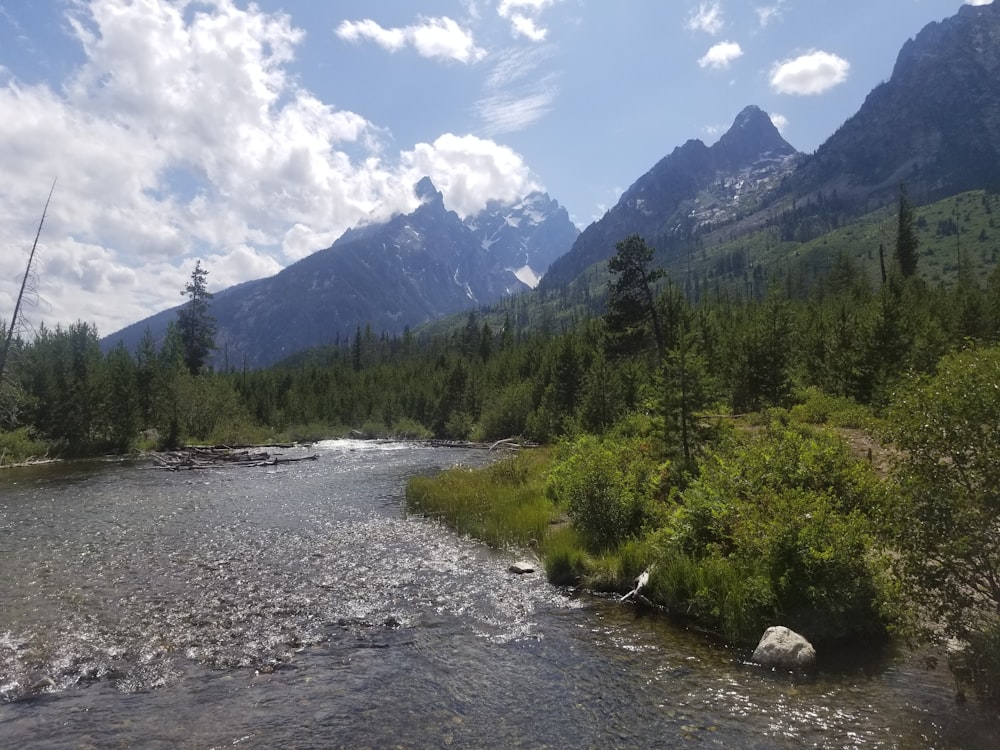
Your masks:
{"label": "hazy jagged mountain with snow patches beneath the big cloud bank", "polygon": [[[579,234],[566,210],[543,193],[491,203],[462,221],[430,179],[415,189],[422,203],[413,213],[350,229],[275,276],[216,293],[216,365],[263,367],[346,341],[358,327],[400,334],[498,301],[533,287]],[[104,345],[123,341],[134,350],[147,327],[159,339],[175,319],[176,308],[161,312]]]}

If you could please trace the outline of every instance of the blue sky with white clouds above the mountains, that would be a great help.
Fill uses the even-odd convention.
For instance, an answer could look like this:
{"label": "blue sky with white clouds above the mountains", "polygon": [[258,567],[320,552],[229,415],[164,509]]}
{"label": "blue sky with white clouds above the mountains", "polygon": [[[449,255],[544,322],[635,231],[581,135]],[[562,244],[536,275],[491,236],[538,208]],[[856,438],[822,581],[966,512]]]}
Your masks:
{"label": "blue sky with white clouds above the mountains", "polygon": [[[0,0],[0,320],[100,335],[417,206],[581,229],[747,105],[811,153],[963,0]],[[965,0],[983,5],[986,0]],[[54,184],[54,189],[53,189]]]}

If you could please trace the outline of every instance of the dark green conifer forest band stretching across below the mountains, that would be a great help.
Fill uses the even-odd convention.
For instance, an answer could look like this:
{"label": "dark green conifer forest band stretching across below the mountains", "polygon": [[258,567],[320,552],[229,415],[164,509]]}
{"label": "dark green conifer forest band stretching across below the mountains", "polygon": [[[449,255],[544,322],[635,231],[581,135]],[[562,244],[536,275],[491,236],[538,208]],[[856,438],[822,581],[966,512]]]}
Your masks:
{"label": "dark green conifer forest band stretching across below the mountains", "polygon": [[[901,227],[912,221],[904,201]],[[73,455],[127,452],[143,436],[162,446],[350,430],[548,442],[601,434],[652,399],[676,433],[667,442],[690,459],[706,410],[788,405],[809,387],[881,407],[907,374],[1000,332],[1000,271],[931,286],[905,231],[884,283],[839,257],[806,296],[771,284],[760,299],[721,290],[694,303],[652,258],[641,237],[620,242],[606,312],[568,330],[471,312],[427,336],[358,328],[340,346],[250,372],[209,367],[214,321],[199,263],[161,341],[147,332],[134,351],[102,353],[84,322],[15,339],[5,426]]]}

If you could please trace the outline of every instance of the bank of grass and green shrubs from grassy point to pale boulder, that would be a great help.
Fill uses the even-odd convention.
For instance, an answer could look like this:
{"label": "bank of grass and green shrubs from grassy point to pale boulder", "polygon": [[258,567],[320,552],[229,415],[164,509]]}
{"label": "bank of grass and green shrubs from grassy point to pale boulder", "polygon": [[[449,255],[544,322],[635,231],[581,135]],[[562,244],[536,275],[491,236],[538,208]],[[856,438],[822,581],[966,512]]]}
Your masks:
{"label": "bank of grass and green shrubs from grassy point to pale boulder", "polygon": [[[583,438],[411,480],[411,512],[530,547],[549,580],[619,595],[747,645],[776,622],[816,643],[884,639],[898,603],[876,516],[885,488],[833,433],[778,419],[706,447],[694,475],[642,436]],[[780,619],[779,619],[780,618]]]}

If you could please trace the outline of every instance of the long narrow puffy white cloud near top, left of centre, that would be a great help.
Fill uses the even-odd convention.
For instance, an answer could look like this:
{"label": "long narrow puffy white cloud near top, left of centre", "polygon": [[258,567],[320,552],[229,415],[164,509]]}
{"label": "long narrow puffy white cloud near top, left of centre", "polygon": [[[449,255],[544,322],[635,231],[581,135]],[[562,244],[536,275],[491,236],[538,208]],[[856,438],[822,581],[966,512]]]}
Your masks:
{"label": "long narrow puffy white cloud near top, left of centre", "polygon": [[369,18],[344,21],[334,33],[346,42],[374,42],[397,52],[412,46],[421,57],[474,63],[486,56],[486,50],[476,46],[472,32],[448,17],[422,18],[412,26],[386,29]]}

